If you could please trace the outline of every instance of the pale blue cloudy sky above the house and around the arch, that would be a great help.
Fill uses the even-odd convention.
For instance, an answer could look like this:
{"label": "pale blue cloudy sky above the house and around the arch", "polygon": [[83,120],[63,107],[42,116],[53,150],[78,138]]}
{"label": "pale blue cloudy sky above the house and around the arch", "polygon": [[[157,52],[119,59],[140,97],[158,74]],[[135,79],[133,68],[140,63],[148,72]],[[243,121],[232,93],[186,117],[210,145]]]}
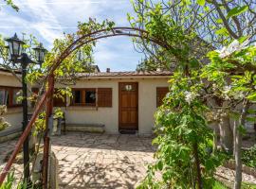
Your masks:
{"label": "pale blue cloudy sky above the house and around the arch", "polygon": [[[89,17],[99,21],[112,20],[116,26],[129,26],[127,12],[132,12],[130,0],[13,0],[20,8],[15,12],[0,5],[0,34],[5,37],[17,32],[33,34],[46,48],[50,49],[55,38],[63,32],[74,32],[78,21]],[[134,49],[131,38],[113,37],[100,40],[94,58],[101,71],[135,70],[142,54]]]}

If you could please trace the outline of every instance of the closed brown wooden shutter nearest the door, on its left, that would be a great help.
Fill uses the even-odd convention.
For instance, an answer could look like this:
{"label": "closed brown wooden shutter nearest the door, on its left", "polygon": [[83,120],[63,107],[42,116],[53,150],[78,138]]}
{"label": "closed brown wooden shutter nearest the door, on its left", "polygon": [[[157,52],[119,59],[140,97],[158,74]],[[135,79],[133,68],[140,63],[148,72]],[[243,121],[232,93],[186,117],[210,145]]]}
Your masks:
{"label": "closed brown wooden shutter nearest the door, on its left", "polygon": [[98,89],[98,106],[112,107],[112,88]]}

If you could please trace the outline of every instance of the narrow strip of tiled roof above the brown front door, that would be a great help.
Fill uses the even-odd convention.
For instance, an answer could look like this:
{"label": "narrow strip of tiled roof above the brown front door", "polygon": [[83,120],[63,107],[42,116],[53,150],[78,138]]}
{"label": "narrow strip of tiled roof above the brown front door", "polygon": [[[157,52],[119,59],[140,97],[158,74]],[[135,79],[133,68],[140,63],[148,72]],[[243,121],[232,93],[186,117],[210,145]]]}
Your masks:
{"label": "narrow strip of tiled roof above the brown front door", "polygon": [[99,73],[81,73],[81,77],[145,77],[145,76],[171,76],[170,71],[130,71],[130,72],[99,72]]}

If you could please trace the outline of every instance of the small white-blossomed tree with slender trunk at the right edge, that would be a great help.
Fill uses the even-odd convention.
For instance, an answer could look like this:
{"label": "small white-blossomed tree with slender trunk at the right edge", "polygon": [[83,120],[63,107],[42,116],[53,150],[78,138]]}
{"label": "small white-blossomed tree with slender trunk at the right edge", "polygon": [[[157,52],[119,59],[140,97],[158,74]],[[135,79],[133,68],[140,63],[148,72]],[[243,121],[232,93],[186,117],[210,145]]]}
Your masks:
{"label": "small white-blossomed tree with slender trunk at the right edge", "polygon": [[[256,46],[247,42],[239,43],[234,41],[222,51],[211,52],[210,64],[204,68],[203,77],[213,81],[219,92],[212,90],[217,95],[225,95],[229,98],[229,109],[236,120],[235,123],[235,149],[234,157],[236,163],[236,175],[234,188],[241,188],[242,182],[242,161],[241,146],[242,135],[245,133],[247,120],[255,121],[247,116],[248,113],[255,113],[250,110],[250,105],[255,103],[255,57]],[[227,81],[229,77],[229,81]]]}

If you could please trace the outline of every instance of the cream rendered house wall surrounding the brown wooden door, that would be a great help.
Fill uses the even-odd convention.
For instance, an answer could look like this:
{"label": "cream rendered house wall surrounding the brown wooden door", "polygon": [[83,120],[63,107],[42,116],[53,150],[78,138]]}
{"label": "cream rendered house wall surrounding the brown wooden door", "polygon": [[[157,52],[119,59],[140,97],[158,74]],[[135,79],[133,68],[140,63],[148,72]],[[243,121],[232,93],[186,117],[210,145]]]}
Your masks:
{"label": "cream rendered house wall surrounding the brown wooden door", "polygon": [[138,132],[150,134],[154,127],[156,110],[156,87],[167,87],[168,77],[137,79],[92,79],[80,80],[73,88],[112,88],[111,108],[67,107],[66,123],[70,124],[104,124],[105,131],[119,131],[119,82],[138,83]]}

